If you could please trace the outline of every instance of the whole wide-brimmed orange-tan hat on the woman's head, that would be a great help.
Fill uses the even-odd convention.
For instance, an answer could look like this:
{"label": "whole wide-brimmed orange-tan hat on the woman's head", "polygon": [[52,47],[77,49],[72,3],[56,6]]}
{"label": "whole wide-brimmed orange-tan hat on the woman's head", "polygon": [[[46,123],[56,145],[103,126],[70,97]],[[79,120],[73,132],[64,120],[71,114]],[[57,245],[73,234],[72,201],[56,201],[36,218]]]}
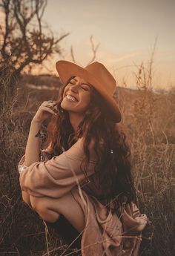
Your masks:
{"label": "whole wide-brimmed orange-tan hat on the woman's head", "polygon": [[105,99],[113,121],[121,121],[122,116],[119,107],[115,99],[113,99],[113,93],[116,90],[116,80],[102,63],[93,62],[87,65],[87,67],[82,68],[73,62],[60,60],[56,62],[56,70],[63,85],[67,84],[71,76],[79,76],[89,82]]}

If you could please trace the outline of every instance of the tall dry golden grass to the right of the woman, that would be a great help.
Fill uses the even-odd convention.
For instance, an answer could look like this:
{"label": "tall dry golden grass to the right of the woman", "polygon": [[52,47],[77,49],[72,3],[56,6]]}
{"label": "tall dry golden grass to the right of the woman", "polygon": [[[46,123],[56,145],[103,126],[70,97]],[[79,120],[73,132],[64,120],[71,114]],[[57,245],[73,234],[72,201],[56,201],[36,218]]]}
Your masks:
{"label": "tall dry golden grass to the right of the woman", "polygon": [[175,253],[175,94],[153,93],[153,62],[140,65],[135,96],[119,91],[139,208],[148,215],[141,255]]}

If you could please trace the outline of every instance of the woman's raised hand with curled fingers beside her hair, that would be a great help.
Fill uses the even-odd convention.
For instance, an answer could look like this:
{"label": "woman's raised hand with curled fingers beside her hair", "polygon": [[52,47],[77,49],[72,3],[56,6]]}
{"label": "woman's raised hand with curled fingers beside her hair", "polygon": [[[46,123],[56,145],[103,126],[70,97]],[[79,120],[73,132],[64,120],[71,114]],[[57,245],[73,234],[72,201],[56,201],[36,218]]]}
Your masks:
{"label": "woman's raised hand with curled fingers beside her hair", "polygon": [[32,121],[42,123],[50,115],[56,115],[58,113],[57,104],[58,102],[52,100],[42,102]]}

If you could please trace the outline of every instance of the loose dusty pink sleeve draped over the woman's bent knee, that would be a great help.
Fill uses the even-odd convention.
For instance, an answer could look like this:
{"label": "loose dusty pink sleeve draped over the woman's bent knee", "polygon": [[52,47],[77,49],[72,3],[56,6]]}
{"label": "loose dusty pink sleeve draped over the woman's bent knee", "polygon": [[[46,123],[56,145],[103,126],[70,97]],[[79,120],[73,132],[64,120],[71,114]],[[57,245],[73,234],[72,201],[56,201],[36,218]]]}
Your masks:
{"label": "loose dusty pink sleeve draped over the woman's bent knee", "polygon": [[[80,138],[59,156],[26,166],[19,177],[22,191],[34,197],[62,197],[85,180],[80,168],[83,157],[83,141]],[[94,174],[96,161],[96,154],[91,149],[90,162],[87,165],[88,176]]]}

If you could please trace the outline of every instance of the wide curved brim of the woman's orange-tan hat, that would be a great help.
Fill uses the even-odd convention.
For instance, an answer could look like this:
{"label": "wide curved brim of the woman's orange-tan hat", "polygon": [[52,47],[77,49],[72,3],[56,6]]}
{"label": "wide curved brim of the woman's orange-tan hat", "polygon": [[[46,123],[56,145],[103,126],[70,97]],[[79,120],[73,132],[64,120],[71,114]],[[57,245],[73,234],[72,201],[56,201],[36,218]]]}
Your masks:
{"label": "wide curved brim of the woman's orange-tan hat", "polygon": [[115,99],[112,96],[108,95],[106,91],[102,88],[102,85],[90,74],[85,68],[76,65],[73,62],[67,62],[65,60],[61,60],[56,62],[56,70],[59,73],[59,78],[63,85],[66,85],[71,76],[79,76],[85,79],[93,88],[96,89],[105,100],[107,104],[111,117],[114,122],[120,122],[122,119],[121,112],[119,111],[119,107],[116,104]]}

